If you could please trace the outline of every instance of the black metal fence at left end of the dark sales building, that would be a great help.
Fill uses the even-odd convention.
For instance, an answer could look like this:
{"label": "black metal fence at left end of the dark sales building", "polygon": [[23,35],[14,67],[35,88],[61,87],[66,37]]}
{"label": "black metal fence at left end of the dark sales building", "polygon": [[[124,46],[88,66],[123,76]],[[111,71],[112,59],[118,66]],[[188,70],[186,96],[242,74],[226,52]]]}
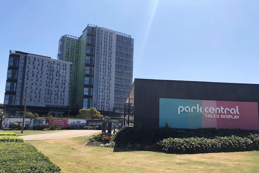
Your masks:
{"label": "black metal fence at left end of the dark sales building", "polygon": [[129,99],[129,103],[124,104],[124,126],[134,126],[134,98]]}

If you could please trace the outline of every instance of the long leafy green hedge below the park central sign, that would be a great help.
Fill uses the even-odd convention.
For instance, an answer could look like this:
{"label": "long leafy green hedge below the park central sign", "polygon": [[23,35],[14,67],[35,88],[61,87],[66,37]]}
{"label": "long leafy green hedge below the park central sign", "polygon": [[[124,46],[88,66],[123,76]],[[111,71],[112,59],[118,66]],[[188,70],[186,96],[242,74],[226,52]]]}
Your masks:
{"label": "long leafy green hedge below the park central sign", "polygon": [[259,134],[248,137],[228,136],[208,138],[168,138],[157,142],[157,151],[164,153],[195,154],[259,150]]}

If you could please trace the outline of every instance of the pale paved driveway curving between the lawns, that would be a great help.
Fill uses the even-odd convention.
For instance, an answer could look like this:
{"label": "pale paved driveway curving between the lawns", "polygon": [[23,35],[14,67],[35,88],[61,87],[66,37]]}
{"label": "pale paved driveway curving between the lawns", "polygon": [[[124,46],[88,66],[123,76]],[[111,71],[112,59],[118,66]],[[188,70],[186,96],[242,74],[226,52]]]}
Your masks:
{"label": "pale paved driveway curving between the lawns", "polygon": [[22,137],[24,141],[32,141],[32,140],[79,137],[79,136],[85,136],[88,134],[93,134],[98,132],[101,132],[101,130],[66,130],[66,131],[58,131],[58,132],[50,132],[50,133],[25,134],[25,135],[19,135],[19,136]]}

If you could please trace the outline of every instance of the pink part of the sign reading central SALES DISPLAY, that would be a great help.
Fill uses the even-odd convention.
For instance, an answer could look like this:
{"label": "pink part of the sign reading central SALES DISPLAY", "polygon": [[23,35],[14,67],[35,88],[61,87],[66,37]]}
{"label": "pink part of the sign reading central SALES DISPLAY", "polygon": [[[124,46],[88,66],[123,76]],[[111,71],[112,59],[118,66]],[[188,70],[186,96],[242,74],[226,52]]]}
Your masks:
{"label": "pink part of the sign reading central SALES DISPLAY", "polygon": [[258,104],[203,100],[203,127],[259,130]]}

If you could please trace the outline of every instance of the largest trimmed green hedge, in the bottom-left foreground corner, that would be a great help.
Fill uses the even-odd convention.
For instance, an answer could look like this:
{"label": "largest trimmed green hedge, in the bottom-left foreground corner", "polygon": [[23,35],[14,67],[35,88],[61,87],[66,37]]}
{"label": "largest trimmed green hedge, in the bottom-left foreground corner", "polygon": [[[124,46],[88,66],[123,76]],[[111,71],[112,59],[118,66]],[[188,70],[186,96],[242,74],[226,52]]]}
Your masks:
{"label": "largest trimmed green hedge, in the bottom-left foreground corner", "polygon": [[0,170],[5,173],[62,173],[29,143],[0,143]]}

